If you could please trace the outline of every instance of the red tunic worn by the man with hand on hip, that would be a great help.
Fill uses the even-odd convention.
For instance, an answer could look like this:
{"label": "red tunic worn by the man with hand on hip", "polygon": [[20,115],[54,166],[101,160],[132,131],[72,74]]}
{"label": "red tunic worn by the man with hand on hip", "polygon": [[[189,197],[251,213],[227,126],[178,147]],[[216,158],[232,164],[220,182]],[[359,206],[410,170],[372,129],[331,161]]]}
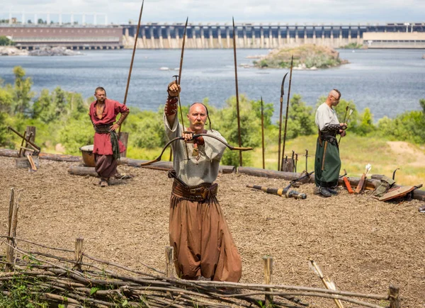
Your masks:
{"label": "red tunic worn by the man with hand on hip", "polygon": [[[123,105],[122,103],[119,103],[118,101],[113,101],[111,99],[106,98],[105,100],[105,108],[103,109],[102,118],[99,119],[96,115],[96,103],[97,101],[94,101],[90,104],[89,109],[89,115],[91,120],[93,121],[94,125],[104,125],[115,122],[117,115],[119,113],[124,113],[128,110],[127,106]],[[94,154],[101,154],[101,155],[112,155],[112,145],[111,145],[111,134],[98,134],[97,132],[94,133],[94,147],[93,147],[93,153]],[[123,153],[125,151],[125,146],[123,142],[118,141],[118,144],[120,146],[120,153]]]}

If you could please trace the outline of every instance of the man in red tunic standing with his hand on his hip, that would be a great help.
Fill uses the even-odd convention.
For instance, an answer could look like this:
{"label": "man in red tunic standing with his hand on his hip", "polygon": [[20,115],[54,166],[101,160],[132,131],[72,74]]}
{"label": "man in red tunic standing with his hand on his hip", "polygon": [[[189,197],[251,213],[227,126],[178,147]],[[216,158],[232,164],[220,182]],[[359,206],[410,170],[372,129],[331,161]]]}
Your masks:
{"label": "man in red tunic standing with his hand on his hip", "polygon": [[[127,106],[106,98],[106,91],[101,86],[94,91],[96,101],[91,103],[89,115],[93,123],[94,148],[93,154],[96,161],[95,170],[101,177],[99,185],[109,186],[108,180],[117,173],[120,153],[125,151],[125,146],[116,134],[116,130],[123,124],[130,110]],[[120,120],[115,124],[117,115],[121,113]]]}

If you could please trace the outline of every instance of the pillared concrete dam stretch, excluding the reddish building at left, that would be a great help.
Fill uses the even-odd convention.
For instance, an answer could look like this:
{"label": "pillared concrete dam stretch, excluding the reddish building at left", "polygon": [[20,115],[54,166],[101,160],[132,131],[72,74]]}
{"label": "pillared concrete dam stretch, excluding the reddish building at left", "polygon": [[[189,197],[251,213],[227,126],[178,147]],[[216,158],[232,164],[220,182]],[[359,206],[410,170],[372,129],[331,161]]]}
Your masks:
{"label": "pillared concrete dam stretch, excluding the reddish building at left", "polygon": [[[137,47],[145,49],[179,49],[184,24],[149,23],[140,26]],[[123,25],[123,45],[132,48],[137,25]],[[365,35],[373,33],[370,39]],[[273,49],[317,44],[339,48],[350,43],[385,48],[424,48],[425,23],[389,23],[386,25],[263,25],[242,23],[235,25],[237,48]],[[399,41],[404,41],[398,44]],[[189,24],[186,47],[193,49],[233,48],[233,27],[229,24]]]}

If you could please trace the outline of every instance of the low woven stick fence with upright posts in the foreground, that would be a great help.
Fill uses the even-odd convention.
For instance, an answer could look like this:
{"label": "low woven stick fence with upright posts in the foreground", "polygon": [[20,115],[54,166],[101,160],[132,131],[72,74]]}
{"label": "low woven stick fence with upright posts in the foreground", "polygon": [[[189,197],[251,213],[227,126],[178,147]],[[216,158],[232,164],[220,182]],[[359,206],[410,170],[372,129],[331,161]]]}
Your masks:
{"label": "low woven stick fence with upright posts in the foreground", "polygon": [[[40,300],[66,307],[307,307],[314,297],[356,304],[356,307],[399,308],[397,287],[388,295],[361,294],[316,287],[272,283],[271,257],[263,258],[265,283],[225,283],[174,278],[173,248],[166,247],[166,273],[140,263],[146,272],[103,261],[84,253],[84,239],[75,249],[58,249],[16,237],[18,195],[11,192],[8,234],[0,236],[6,256],[0,256],[3,295],[16,281]],[[26,249],[21,246],[28,247]],[[300,300],[298,297],[302,297]],[[366,302],[367,301],[367,302]],[[375,303],[374,303],[375,302]],[[382,302],[381,302],[382,303]]]}

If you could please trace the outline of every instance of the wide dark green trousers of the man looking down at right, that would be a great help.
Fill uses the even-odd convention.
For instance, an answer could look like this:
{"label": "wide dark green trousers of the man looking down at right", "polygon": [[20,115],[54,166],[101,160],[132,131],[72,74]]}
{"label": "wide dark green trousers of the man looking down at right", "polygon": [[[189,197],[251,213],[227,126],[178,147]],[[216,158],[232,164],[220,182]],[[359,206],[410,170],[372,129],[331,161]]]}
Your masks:
{"label": "wide dark green trousers of the man looking down at right", "polygon": [[337,144],[322,140],[322,145],[317,138],[316,157],[314,159],[314,182],[316,186],[334,187],[338,185],[341,159]]}

